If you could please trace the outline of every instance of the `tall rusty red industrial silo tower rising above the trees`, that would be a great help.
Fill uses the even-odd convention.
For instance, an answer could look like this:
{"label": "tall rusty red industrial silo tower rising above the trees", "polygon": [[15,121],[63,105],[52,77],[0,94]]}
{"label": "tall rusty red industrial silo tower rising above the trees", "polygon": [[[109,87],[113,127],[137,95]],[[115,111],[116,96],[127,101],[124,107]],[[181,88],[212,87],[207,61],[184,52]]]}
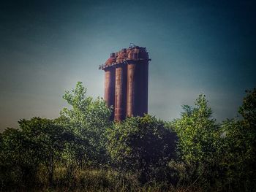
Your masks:
{"label": "tall rusty red industrial silo tower rising above the trees", "polygon": [[148,61],[146,47],[131,44],[99,66],[105,71],[104,99],[113,106],[112,120],[148,112]]}

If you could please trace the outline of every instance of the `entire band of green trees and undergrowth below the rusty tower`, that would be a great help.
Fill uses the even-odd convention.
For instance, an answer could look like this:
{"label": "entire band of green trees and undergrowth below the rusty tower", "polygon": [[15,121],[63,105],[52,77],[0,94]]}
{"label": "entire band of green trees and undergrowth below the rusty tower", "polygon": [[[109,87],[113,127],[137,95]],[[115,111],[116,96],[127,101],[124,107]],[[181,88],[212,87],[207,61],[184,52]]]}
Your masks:
{"label": "entire band of green trees and undergrowth below the rusty tower", "polygon": [[78,82],[54,120],[22,119],[0,134],[1,191],[255,191],[256,89],[241,117],[217,123],[206,96],[181,118],[113,123]]}

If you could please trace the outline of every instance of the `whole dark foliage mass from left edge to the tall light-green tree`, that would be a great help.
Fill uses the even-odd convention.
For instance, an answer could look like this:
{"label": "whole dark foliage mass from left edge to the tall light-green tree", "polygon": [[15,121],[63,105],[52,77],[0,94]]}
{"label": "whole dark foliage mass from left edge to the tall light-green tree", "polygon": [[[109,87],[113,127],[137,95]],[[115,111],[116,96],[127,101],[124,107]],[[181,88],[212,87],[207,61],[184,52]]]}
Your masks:
{"label": "whole dark foliage mass from left edge to the tall light-green tree", "polygon": [[70,134],[53,120],[31,118],[18,123],[20,129],[8,128],[1,135],[2,165],[15,168],[14,172],[19,171],[20,177],[24,177],[22,180],[29,181],[35,179],[42,164],[48,169],[49,183],[53,183],[54,166]]}

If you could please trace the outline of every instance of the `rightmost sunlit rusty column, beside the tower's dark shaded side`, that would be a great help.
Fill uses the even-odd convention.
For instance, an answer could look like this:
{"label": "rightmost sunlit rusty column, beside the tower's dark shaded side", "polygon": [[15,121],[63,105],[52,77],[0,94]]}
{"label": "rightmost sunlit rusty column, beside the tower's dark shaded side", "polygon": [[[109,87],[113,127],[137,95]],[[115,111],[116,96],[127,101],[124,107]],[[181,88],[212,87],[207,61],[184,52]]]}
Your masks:
{"label": "rightmost sunlit rusty column, beside the tower's dark shaded side", "polygon": [[127,117],[132,117],[135,110],[135,64],[127,66]]}

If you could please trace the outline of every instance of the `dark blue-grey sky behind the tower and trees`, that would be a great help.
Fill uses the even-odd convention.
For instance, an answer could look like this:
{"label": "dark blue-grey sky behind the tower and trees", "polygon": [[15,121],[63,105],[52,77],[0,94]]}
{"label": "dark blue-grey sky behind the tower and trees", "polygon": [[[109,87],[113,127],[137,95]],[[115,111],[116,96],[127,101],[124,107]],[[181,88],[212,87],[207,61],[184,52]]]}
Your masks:
{"label": "dark blue-grey sky behind the tower and trees", "polygon": [[146,47],[148,110],[178,118],[205,93],[218,121],[256,87],[255,1],[1,1],[0,130],[20,118],[56,118],[82,81],[103,96],[111,52]]}

